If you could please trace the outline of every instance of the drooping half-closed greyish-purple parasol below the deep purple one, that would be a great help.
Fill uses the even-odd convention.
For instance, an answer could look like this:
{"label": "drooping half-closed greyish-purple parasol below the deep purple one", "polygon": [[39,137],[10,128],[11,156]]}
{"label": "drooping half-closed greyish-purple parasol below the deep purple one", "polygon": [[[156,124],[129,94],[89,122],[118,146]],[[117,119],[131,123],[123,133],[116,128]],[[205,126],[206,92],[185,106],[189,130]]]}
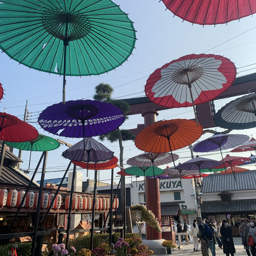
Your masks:
{"label": "drooping half-closed greyish-purple parasol below the deep purple one", "polygon": [[[85,150],[84,150],[85,141]],[[113,158],[114,152],[92,137],[77,142],[62,153],[64,158],[74,161],[100,162]]]}

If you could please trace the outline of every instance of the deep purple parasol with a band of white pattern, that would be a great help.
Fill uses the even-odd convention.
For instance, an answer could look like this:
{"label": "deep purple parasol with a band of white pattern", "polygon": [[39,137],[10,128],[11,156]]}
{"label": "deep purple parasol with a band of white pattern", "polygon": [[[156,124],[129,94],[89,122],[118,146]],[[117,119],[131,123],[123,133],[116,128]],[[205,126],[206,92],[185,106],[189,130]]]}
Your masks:
{"label": "deep purple parasol with a band of white pattern", "polygon": [[106,134],[123,122],[122,110],[98,100],[60,102],[47,107],[38,117],[38,123],[47,132],[71,138]]}

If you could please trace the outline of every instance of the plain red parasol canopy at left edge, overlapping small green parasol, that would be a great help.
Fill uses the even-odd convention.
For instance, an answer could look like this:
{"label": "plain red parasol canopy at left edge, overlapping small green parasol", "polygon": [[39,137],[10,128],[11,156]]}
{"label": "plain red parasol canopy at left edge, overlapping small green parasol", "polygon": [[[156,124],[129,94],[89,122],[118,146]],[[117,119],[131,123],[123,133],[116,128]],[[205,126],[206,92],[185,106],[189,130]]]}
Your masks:
{"label": "plain red parasol canopy at left edge, overlapping small green parasol", "polygon": [[25,142],[35,140],[38,131],[32,125],[16,116],[0,112],[0,140],[8,142]]}

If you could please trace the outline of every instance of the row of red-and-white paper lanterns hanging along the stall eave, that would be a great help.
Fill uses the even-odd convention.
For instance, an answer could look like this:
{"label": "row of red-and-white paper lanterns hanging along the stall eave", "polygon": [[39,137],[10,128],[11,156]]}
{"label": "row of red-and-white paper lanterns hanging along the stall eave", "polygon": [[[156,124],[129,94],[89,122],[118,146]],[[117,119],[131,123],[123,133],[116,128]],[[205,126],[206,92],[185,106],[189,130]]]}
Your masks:
{"label": "row of red-and-white paper lanterns hanging along the stall eave", "polygon": [[[7,206],[7,207],[19,207],[24,197],[25,191],[24,190],[16,190],[16,189],[0,189],[0,207]],[[28,192],[26,199],[24,200],[22,207],[26,208],[36,208],[38,202],[38,192],[34,193],[33,191]],[[49,208],[50,204],[54,198],[54,193],[42,193],[42,200],[40,208]],[[92,196],[81,196],[81,195],[74,195],[73,196],[73,204],[72,210],[92,210]],[[70,196],[66,196],[65,198],[65,208],[68,210],[69,208],[69,200]],[[54,203],[52,204],[52,209],[60,209],[62,203],[62,196],[57,194]],[[114,199],[113,209],[118,208],[118,198]],[[109,210],[110,209],[110,198],[106,197],[97,197],[95,210]]]}

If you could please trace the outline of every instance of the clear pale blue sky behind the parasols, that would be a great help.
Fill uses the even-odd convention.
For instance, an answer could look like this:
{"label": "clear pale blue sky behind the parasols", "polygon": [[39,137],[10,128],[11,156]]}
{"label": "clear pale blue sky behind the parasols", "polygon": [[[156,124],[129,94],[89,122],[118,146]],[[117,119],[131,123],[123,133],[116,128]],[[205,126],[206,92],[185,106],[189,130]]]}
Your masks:
{"label": "clear pale blue sky behind the parasols", "polygon": [[[144,96],[144,85],[147,77],[156,68],[170,62],[186,54],[191,53],[216,53],[230,58],[238,68],[238,75],[256,72],[256,65],[241,68],[246,65],[254,64],[256,61],[256,17],[246,17],[240,22],[233,21],[228,23],[228,26],[217,25],[205,26],[193,25],[188,22],[182,22],[178,17],[173,18],[173,14],[166,10],[162,2],[158,0],[114,0],[116,4],[120,4],[120,8],[129,14],[129,18],[134,22],[134,27],[138,31],[136,36],[136,49],[133,55],[130,56],[127,62],[112,70],[108,74],[92,77],[68,77],[66,83],[66,100],[77,99],[92,99],[94,87],[105,82],[116,87],[114,90],[114,98],[130,98]],[[252,30],[238,36],[246,30]],[[238,36],[229,42],[225,42],[230,38]],[[218,46],[219,44],[222,44]],[[240,46],[246,44],[244,46]],[[218,46],[218,47],[216,47]],[[239,46],[239,47],[236,47]],[[235,48],[233,48],[235,47]],[[210,50],[211,48],[214,48]],[[232,48],[232,49],[228,49]],[[209,51],[210,50],[210,51]],[[26,66],[19,65],[16,61],[4,54],[0,54],[1,58],[1,76],[0,82],[5,89],[5,96],[0,104],[0,110],[3,111],[6,107],[6,112],[23,118],[26,99],[28,99],[28,110],[32,112],[31,121],[36,122],[40,111],[53,103],[61,102],[62,100],[62,77],[54,74],[38,72],[28,69]],[[248,70],[254,68],[252,70]],[[243,72],[244,70],[247,70]],[[130,96],[127,96],[132,94]],[[231,99],[229,99],[231,100]],[[224,106],[229,100],[220,100],[215,102],[216,110]],[[158,120],[172,118],[191,118],[193,114],[191,108],[181,108],[161,111]],[[135,128],[138,123],[143,123],[143,118],[140,115],[131,116],[126,121],[122,128]],[[42,128],[33,124],[40,133],[59,138],[44,132]],[[222,130],[222,129],[218,129]],[[232,133],[254,134],[255,129],[237,131]],[[202,138],[207,138],[211,134],[206,134]],[[71,138],[61,138],[69,143],[76,143],[78,140]],[[108,148],[119,156],[118,143],[110,144],[104,142]],[[64,170],[68,160],[62,158],[62,152],[66,150],[66,146],[60,146],[59,149],[49,152],[47,171]],[[15,154],[17,150],[14,150]],[[140,154],[132,141],[124,142],[124,158],[125,161]],[[190,152],[187,148],[176,152],[180,155],[180,162],[189,159]],[[225,153],[224,153],[225,154]],[[244,153],[243,156],[250,155],[250,152]],[[31,169],[35,168],[40,153],[32,153]],[[187,157],[187,158],[184,158]],[[210,156],[213,159],[219,160],[220,155]],[[22,153],[21,168],[28,168],[29,153]],[[177,163],[179,160],[177,160]],[[127,165],[126,165],[127,166]],[[84,180],[86,180],[86,171]],[[115,169],[118,172],[118,168]],[[47,172],[46,178],[55,178],[62,176],[63,172]],[[30,174],[32,175],[32,174]],[[90,172],[90,178],[93,178],[93,171]],[[110,178],[110,171],[101,171],[100,180]],[[36,176],[36,180],[40,179],[40,174]],[[127,180],[128,182],[128,180]]]}

